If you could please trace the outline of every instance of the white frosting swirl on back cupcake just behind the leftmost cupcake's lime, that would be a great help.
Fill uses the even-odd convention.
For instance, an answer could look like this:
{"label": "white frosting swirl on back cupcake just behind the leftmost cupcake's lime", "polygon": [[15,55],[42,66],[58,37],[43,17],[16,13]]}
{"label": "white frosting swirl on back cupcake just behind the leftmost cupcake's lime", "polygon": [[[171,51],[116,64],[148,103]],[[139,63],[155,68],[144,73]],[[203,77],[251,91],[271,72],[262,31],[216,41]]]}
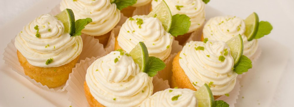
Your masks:
{"label": "white frosting swirl on back cupcake just behind the leftmost cupcake's lime", "polygon": [[62,0],[60,10],[66,8],[73,10],[76,20],[87,17],[93,20],[82,30],[83,34],[91,36],[108,33],[121,19],[120,10],[110,0]]}

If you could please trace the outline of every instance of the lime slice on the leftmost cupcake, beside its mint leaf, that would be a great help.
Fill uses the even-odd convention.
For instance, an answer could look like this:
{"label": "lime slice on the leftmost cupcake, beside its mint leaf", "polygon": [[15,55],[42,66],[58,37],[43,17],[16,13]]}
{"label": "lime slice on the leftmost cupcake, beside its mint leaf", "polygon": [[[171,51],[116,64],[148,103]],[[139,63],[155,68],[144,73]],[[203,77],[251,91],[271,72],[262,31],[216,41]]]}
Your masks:
{"label": "lime slice on the leftmost cupcake, beside its mint leaf", "polygon": [[75,19],[74,12],[71,9],[64,9],[62,12],[56,15],[56,17],[63,23],[64,32],[69,32],[70,35],[75,33]]}

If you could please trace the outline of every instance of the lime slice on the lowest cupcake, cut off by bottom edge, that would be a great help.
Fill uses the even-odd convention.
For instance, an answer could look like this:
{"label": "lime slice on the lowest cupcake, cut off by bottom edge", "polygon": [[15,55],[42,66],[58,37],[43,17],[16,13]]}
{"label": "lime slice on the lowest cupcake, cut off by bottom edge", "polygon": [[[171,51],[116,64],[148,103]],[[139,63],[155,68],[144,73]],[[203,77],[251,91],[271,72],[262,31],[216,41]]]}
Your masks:
{"label": "lime slice on the lowest cupcake, cut off by bottom edge", "polygon": [[207,84],[204,84],[196,92],[195,96],[198,100],[198,107],[212,107],[214,104],[214,97]]}

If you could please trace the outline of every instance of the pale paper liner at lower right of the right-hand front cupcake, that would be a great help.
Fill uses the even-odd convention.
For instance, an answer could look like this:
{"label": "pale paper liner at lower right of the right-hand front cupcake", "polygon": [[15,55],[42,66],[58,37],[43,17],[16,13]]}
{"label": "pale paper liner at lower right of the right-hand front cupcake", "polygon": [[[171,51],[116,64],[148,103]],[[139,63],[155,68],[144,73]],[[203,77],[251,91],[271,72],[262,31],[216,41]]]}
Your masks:
{"label": "pale paper liner at lower right of the right-hand front cupcake", "polygon": [[228,94],[230,95],[229,97],[227,96],[222,96],[216,100],[223,100],[226,103],[228,103],[230,105],[230,107],[235,107],[235,104],[237,103],[237,99],[238,99],[238,95],[240,94],[240,78],[242,75],[238,75],[237,79],[236,79],[236,84],[234,89],[229,92]]}

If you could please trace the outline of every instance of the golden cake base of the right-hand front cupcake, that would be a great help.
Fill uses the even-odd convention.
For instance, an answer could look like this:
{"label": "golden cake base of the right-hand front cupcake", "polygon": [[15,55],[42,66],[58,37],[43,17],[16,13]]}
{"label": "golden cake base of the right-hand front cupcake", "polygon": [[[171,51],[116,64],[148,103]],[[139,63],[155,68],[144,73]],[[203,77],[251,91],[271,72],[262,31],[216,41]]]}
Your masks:
{"label": "golden cake base of the right-hand front cupcake", "polygon": [[[174,88],[174,87],[188,88],[188,89],[197,91],[196,88],[193,87],[185,71],[180,66],[180,63],[179,63],[180,53],[181,51],[178,52],[176,57],[173,59],[171,88]],[[213,97],[214,99],[218,99],[221,96],[213,96]]]}

